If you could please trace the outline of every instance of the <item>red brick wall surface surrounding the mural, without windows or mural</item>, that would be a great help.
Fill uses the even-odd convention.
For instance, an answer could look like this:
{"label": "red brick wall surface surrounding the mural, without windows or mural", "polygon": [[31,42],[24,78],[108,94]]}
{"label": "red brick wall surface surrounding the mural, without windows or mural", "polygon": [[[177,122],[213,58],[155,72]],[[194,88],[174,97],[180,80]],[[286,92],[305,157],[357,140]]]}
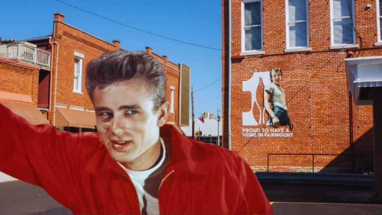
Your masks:
{"label": "red brick wall surface surrounding the mural, without windows or mural", "polygon": [[[329,2],[329,0],[328,0]],[[326,1],[309,0],[309,47],[311,53],[290,53],[286,49],[285,0],[263,0],[263,51],[265,56],[247,56],[232,60],[231,147],[258,170],[267,166],[268,153],[364,154],[365,164],[372,159],[373,115],[370,106],[354,106],[354,143],[350,144],[349,97],[343,60],[347,50],[329,50],[330,8]],[[372,8],[364,10],[366,4]],[[377,41],[375,1],[356,0],[356,27],[362,34],[362,47],[374,47]],[[222,1],[223,16],[223,146],[228,147],[228,1]],[[232,0],[232,56],[241,52],[241,0]],[[361,47],[360,39],[356,39]],[[322,51],[314,53],[314,51]],[[358,50],[349,50],[354,57]],[[269,56],[274,54],[273,56]],[[362,50],[360,57],[380,56],[382,49]],[[242,112],[251,109],[251,94],[243,92],[243,81],[254,72],[282,68],[282,88],[286,93],[287,109],[294,123],[292,137],[243,137],[243,128],[273,128],[242,126]],[[262,84],[261,84],[262,85]],[[260,85],[260,86],[261,86]],[[257,100],[263,110],[263,89],[257,90]],[[255,119],[259,118],[254,105]],[[265,121],[268,114],[265,115]],[[286,128],[286,126],[282,126]],[[287,127],[288,128],[288,127]],[[315,156],[315,167],[350,167],[351,159],[335,156]],[[358,160],[361,163],[360,159]],[[306,167],[312,156],[270,156],[272,167]],[[315,171],[319,170],[317,168]],[[311,171],[311,170],[310,170]]]}

